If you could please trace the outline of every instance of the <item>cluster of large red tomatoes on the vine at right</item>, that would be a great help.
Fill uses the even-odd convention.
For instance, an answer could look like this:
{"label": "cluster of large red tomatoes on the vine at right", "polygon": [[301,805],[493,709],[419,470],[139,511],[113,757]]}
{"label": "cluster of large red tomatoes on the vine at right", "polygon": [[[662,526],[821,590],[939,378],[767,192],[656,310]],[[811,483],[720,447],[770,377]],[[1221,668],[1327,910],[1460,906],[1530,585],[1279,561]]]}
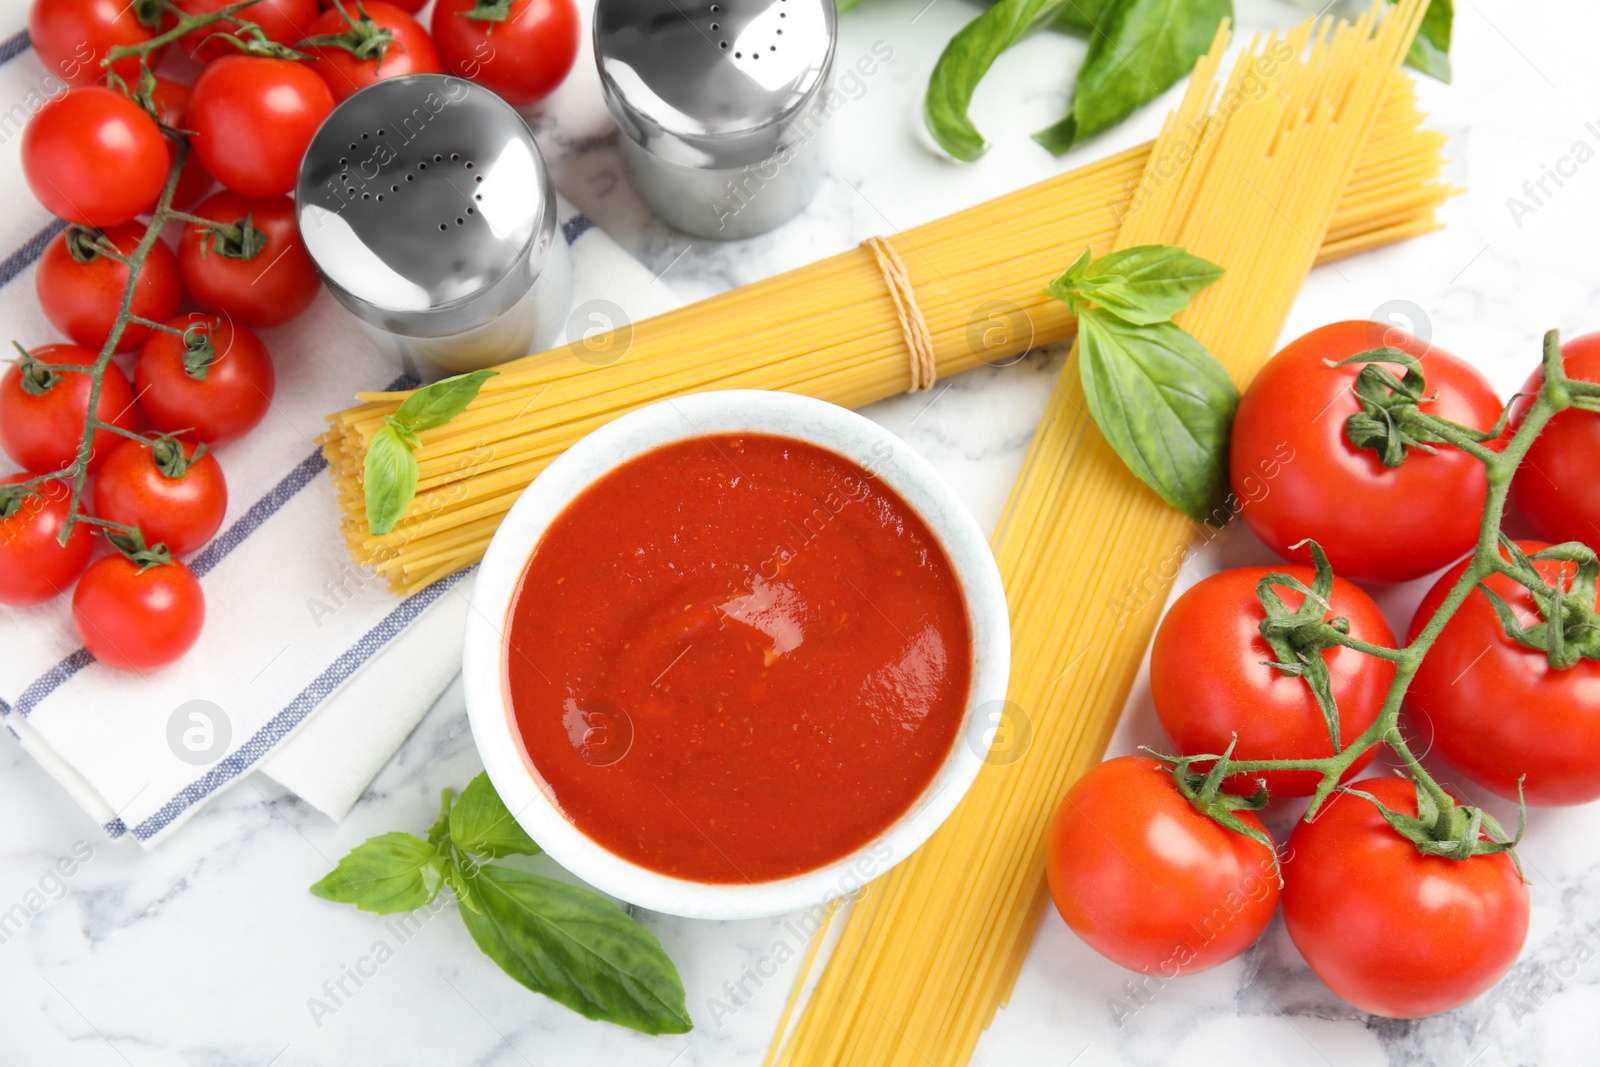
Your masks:
{"label": "cluster of large red tomatoes on the vine at right", "polygon": [[[1496,432],[1504,406],[1478,371],[1378,323],[1315,330],[1269,362],[1238,406],[1232,486],[1245,522],[1291,563],[1214,574],[1179,597],[1162,621],[1150,685],[1179,755],[1222,753],[1230,744],[1232,760],[1334,753],[1312,688],[1272,665],[1278,656],[1261,632],[1267,608],[1258,584],[1269,573],[1314,587],[1306,539],[1318,542],[1342,576],[1333,581],[1323,619],[1342,617],[1352,638],[1382,648],[1395,648],[1395,635],[1357,582],[1402,582],[1450,568],[1416,609],[1411,641],[1469,565],[1464,557],[1477,545],[1488,494],[1485,464],[1459,448],[1422,442],[1400,466],[1386,467],[1346,432],[1360,410],[1354,392],[1360,366],[1330,362],[1384,344],[1421,358],[1424,411],[1485,438]],[[1600,381],[1600,334],[1568,342],[1562,358],[1570,379]],[[1536,394],[1539,384],[1534,373],[1523,392]],[[1506,434],[1528,403],[1512,408]],[[1488,448],[1498,451],[1504,440],[1490,440]],[[1510,523],[1538,537],[1518,542],[1525,552],[1547,542],[1600,544],[1595,470],[1600,414],[1562,411],[1512,483],[1520,518]],[[1536,568],[1557,590],[1571,589],[1578,569],[1554,560]],[[1498,574],[1485,585],[1522,625],[1539,621],[1523,585]],[[1304,601],[1294,589],[1274,592],[1290,611]],[[1339,737],[1349,744],[1378,721],[1397,665],[1342,645],[1320,654]],[[1418,749],[1501,797],[1517,800],[1522,789],[1530,805],[1600,798],[1600,662],[1554,667],[1544,651],[1507,633],[1482,587],[1437,633],[1403,707]],[[1411,781],[1349,781],[1378,747],[1355,760],[1344,781],[1390,813],[1418,816]],[[1322,776],[1269,769],[1221,785],[1250,795],[1258,779],[1272,798],[1291,798],[1309,797]],[[1251,830],[1238,833],[1202,814],[1190,795],[1165,761],[1122,757],[1085,774],[1051,825],[1048,873],[1061,915],[1123,966],[1165,981],[1230,960],[1261,936],[1282,902],[1290,937],[1334,993],[1363,1011],[1408,1019],[1483,993],[1522,950],[1528,891],[1510,853],[1424,854],[1370,798],[1336,792],[1294,827],[1275,857],[1253,811],[1232,813]],[[1282,891],[1275,859],[1282,859]]]}

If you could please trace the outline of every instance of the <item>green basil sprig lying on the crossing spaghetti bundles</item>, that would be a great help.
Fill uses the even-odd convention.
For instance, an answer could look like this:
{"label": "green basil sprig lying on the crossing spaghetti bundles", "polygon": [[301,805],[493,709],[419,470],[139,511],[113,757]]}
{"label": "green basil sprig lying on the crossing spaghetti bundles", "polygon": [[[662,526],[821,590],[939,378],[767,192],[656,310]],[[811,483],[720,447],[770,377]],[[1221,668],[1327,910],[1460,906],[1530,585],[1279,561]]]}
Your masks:
{"label": "green basil sprig lying on the crossing spaghetti bundles", "polygon": [[1083,250],[1050,294],[1078,317],[1078,376],[1090,418],[1141,482],[1190,518],[1227,493],[1238,389],[1173,315],[1222,269],[1182,248]]}

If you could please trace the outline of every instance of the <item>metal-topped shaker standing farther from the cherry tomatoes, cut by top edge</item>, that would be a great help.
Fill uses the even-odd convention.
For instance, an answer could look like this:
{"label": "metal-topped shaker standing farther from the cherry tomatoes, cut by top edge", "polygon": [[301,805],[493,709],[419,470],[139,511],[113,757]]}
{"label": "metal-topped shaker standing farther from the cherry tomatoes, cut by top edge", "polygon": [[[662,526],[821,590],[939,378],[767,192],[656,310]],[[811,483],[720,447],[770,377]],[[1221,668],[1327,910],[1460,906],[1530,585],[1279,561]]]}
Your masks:
{"label": "metal-topped shaker standing farther from the cherry tomatoes, cut by top edge", "polygon": [[834,0],[598,0],[595,62],[654,213],[736,238],[797,214],[827,171]]}

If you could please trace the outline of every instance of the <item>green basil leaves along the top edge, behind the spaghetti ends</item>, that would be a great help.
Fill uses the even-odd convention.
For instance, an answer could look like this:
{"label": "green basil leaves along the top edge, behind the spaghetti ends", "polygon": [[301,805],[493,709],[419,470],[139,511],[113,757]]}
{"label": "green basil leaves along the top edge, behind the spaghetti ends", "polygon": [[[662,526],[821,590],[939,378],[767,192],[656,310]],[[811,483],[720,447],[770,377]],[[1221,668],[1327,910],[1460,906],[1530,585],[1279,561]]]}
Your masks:
{"label": "green basil leaves along the top edge, behind the spaghetti ends", "polygon": [[[1082,34],[1090,45],[1072,110],[1034,134],[1051,152],[1066,152],[1171,88],[1211,46],[1218,24],[1232,16],[1232,0],[998,0],[939,56],[923,106],[928,131],[958,160],[982,155],[987,146],[966,114],[978,83],[1008,48],[1050,26]],[[1453,0],[1432,0],[1406,62],[1448,82],[1453,21]]]}

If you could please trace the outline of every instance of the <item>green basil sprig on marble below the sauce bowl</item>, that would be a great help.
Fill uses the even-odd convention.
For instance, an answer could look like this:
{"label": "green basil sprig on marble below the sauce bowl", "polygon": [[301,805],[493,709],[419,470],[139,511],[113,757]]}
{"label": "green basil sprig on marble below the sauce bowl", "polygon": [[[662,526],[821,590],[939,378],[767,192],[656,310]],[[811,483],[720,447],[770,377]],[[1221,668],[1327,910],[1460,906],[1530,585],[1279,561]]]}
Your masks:
{"label": "green basil sprig on marble below the sauce bowl", "polygon": [[533,992],[642,1033],[691,1030],[677,968],[627,912],[565,881],[486,862],[539,851],[478,774],[461,797],[445,790],[427,840],[370,838],[310,891],[387,915],[424,907],[450,885],[472,941]]}

